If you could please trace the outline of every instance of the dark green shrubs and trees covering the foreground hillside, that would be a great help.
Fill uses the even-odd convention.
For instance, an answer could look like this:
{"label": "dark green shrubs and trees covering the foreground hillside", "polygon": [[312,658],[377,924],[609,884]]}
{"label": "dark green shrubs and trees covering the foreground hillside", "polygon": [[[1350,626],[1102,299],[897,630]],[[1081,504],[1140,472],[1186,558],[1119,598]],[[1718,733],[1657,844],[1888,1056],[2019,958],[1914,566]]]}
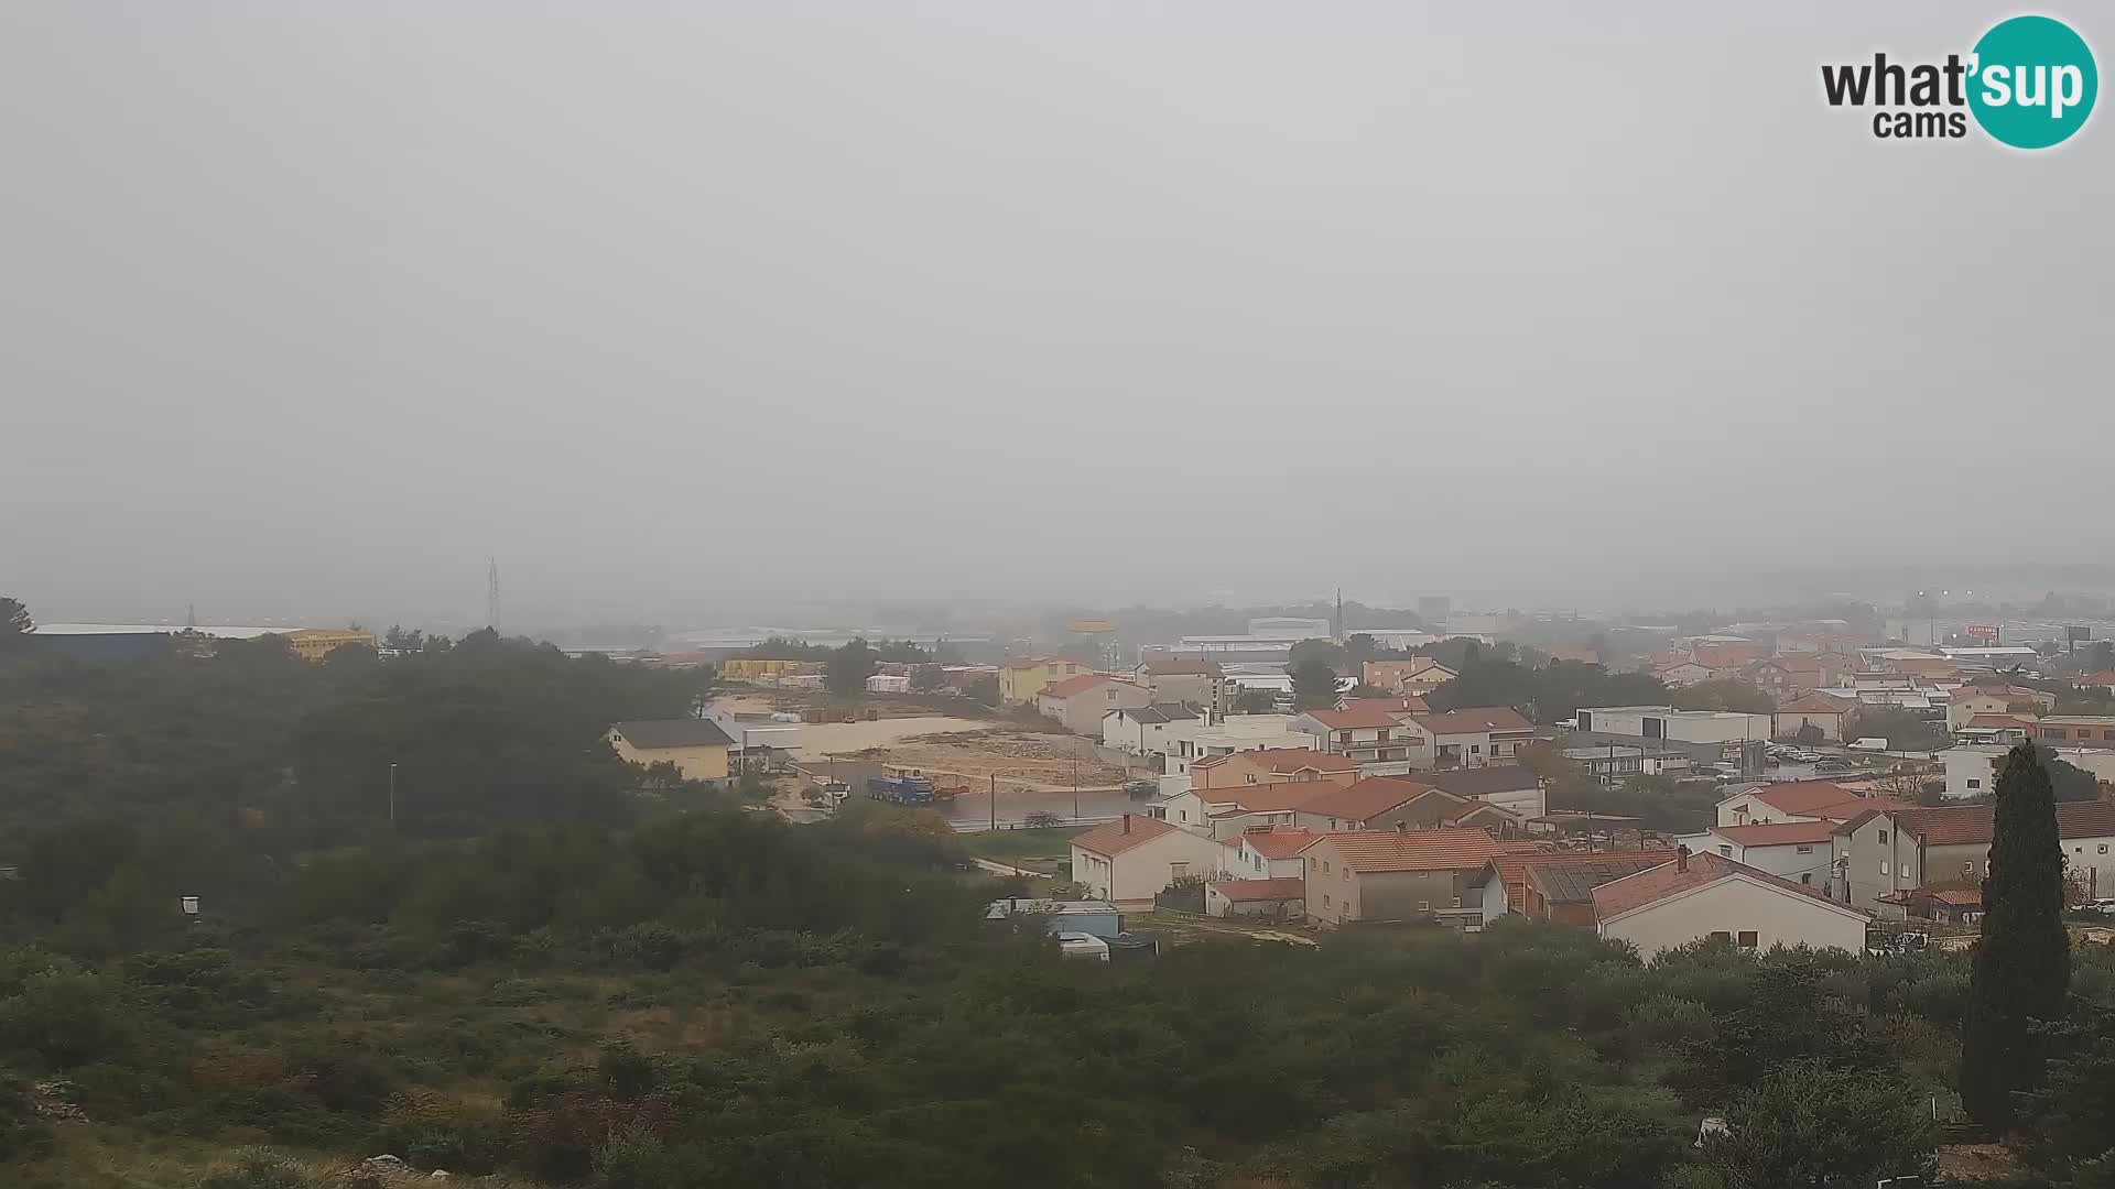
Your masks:
{"label": "dark green shrubs and trees covering the foreground hillside", "polygon": [[[0,1185],[1849,1187],[1923,1170],[1954,1098],[1963,956],[1504,925],[1062,961],[981,920],[1007,886],[937,817],[647,779],[601,724],[696,683],[520,641],[0,690]],[[2088,1189],[2102,952],[2071,992],[2020,1149]]]}

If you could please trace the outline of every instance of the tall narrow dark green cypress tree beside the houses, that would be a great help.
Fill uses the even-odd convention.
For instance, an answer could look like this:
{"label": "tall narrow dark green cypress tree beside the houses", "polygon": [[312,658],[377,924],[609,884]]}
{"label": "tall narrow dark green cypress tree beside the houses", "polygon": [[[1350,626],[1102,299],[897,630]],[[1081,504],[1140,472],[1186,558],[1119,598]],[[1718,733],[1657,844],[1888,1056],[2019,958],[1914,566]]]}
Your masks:
{"label": "tall narrow dark green cypress tree beside the houses", "polygon": [[2041,1081],[2041,1051],[2028,1022],[2062,1016],[2068,988],[2056,793],[2035,745],[2022,743],[2005,755],[1997,779],[1982,941],[1961,1028],[1961,1104],[1978,1123],[2005,1128],[2013,1092]]}

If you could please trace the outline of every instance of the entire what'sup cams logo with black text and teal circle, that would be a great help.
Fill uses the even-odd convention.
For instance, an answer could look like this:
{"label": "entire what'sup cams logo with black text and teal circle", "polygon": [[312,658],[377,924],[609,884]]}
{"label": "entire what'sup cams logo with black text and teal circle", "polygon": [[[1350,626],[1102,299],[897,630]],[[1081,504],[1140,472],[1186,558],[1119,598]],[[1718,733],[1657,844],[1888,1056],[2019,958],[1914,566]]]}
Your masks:
{"label": "entire what'sup cams logo with black text and teal circle", "polygon": [[2049,148],[2071,140],[2094,114],[2100,72],[2094,51],[2071,25],[2013,17],[1990,28],[1967,57],[1944,63],[1872,61],[1823,66],[1821,93],[1832,108],[1876,108],[1880,140],[1965,138],[1969,116],[1984,135],[2011,148]]}

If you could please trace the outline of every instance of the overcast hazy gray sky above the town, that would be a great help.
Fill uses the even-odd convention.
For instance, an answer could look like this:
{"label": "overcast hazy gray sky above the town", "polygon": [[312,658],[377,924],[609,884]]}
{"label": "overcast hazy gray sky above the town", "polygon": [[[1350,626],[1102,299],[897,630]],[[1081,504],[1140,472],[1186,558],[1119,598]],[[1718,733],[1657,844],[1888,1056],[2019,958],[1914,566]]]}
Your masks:
{"label": "overcast hazy gray sky above the town", "polygon": [[2115,114],[2020,154],[1821,102],[2011,13],[0,0],[0,590],[476,618],[499,556],[512,607],[673,622],[2115,561]]}

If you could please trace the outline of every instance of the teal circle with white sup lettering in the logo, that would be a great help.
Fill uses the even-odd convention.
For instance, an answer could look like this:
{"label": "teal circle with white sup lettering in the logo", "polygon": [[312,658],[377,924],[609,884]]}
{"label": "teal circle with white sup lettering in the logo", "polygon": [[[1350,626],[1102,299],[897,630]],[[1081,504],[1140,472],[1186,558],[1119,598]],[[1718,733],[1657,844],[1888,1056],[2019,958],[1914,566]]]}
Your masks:
{"label": "teal circle with white sup lettering in the logo", "polygon": [[1997,142],[2049,148],[2085,127],[2100,95],[2094,51],[2071,25],[2013,17],[1990,25],[1969,66],[1969,110]]}

